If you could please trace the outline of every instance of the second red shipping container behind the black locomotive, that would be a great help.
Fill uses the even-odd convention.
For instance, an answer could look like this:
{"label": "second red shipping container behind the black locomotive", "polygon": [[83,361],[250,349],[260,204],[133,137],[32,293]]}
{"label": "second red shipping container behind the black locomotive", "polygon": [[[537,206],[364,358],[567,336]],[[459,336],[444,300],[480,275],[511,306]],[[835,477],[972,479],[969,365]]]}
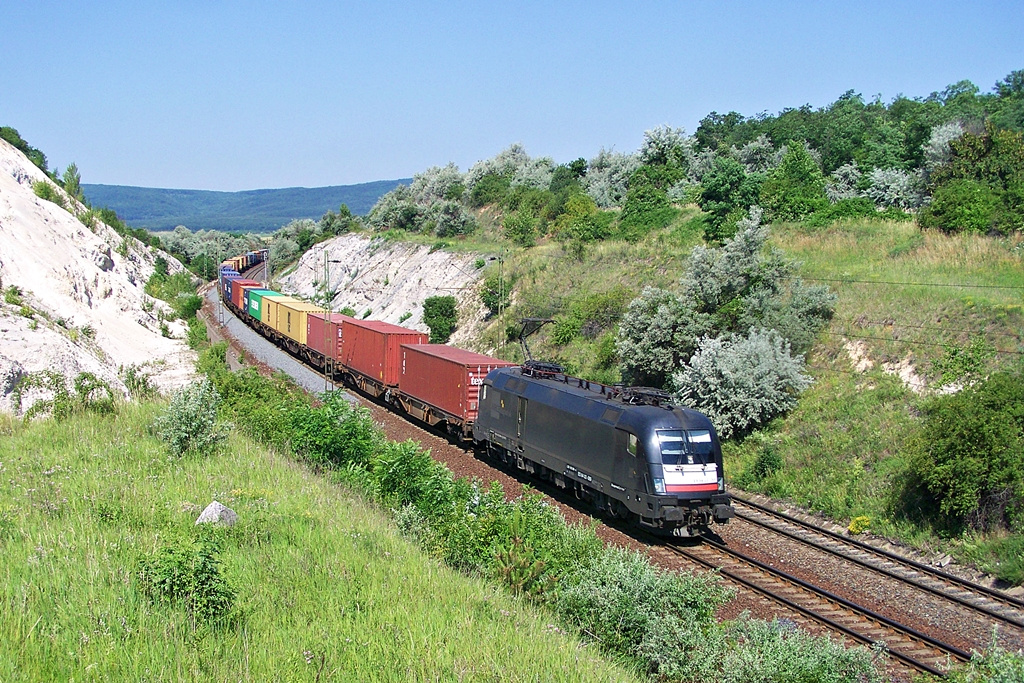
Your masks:
{"label": "second red shipping container behind the black locomotive", "polygon": [[383,321],[341,324],[341,365],[384,386],[396,386],[401,370],[401,345],[426,344],[427,335]]}

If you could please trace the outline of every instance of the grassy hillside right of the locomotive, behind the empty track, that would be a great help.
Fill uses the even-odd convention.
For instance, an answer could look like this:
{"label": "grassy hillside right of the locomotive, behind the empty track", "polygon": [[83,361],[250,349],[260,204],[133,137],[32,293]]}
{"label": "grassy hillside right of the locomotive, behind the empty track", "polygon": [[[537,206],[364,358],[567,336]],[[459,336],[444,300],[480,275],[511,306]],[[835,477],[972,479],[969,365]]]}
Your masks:
{"label": "grassy hillside right of the locomotive, behind the empty track", "polygon": [[[762,449],[774,446],[783,456],[783,469],[748,485],[842,521],[865,515],[878,531],[945,547],[1007,578],[1018,574],[1020,566],[999,563],[1020,547],[1019,539],[941,543],[900,514],[904,444],[918,433],[927,394],[908,390],[881,365],[911,365],[934,389],[941,375],[935,362],[950,348],[978,339],[993,351],[988,370],[1020,362],[1024,242],[922,233],[913,223],[853,221],[821,231],[779,226],[774,244],[803,262],[805,278],[867,282],[828,283],[839,302],[808,358],[814,386],[791,415],[730,444],[729,473],[749,471]],[[848,342],[862,343],[873,368],[858,372]]]}

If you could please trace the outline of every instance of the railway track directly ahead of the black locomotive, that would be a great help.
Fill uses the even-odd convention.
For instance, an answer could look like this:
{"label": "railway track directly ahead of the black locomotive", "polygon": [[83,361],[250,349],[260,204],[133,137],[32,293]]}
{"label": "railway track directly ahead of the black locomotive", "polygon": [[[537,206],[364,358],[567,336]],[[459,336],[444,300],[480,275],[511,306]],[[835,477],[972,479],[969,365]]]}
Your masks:
{"label": "railway track directly ahead of the black locomotive", "polygon": [[669,548],[829,631],[864,645],[884,647],[903,669],[944,676],[950,661],[967,661],[971,657],[969,652],[953,645],[771,567],[723,543],[705,539],[698,544]]}

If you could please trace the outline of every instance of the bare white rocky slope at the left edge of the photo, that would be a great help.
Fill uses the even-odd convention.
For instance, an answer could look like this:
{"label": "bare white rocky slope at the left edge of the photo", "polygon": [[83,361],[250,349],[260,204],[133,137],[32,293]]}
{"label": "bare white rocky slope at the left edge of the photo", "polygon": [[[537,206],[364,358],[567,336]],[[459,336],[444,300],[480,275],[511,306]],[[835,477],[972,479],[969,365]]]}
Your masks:
{"label": "bare white rocky slope at the left edge of the photo", "polygon": [[[63,206],[37,197],[37,182],[51,183]],[[72,386],[78,373],[91,372],[126,396],[119,370],[129,366],[162,389],[187,383],[195,354],[185,328],[162,329],[169,307],[144,292],[158,254],[90,217],[0,140],[0,349],[22,373],[53,370]],[[163,256],[172,272],[183,268]],[[11,410],[8,394],[0,393],[0,411]]]}

